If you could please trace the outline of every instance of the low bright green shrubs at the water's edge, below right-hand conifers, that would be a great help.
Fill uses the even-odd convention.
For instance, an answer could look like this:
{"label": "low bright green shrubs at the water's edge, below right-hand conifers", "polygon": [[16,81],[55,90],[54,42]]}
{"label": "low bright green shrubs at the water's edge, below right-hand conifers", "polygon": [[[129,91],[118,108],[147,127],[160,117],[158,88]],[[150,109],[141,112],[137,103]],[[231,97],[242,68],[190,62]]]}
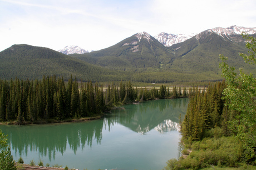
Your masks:
{"label": "low bright green shrubs at the water's edge, below right-hand conifers", "polygon": [[[234,137],[204,138],[193,142],[192,152],[185,159],[170,159],[165,167],[169,169],[199,169],[210,165],[218,167],[237,167],[239,145]],[[183,153],[188,153],[187,148]]]}

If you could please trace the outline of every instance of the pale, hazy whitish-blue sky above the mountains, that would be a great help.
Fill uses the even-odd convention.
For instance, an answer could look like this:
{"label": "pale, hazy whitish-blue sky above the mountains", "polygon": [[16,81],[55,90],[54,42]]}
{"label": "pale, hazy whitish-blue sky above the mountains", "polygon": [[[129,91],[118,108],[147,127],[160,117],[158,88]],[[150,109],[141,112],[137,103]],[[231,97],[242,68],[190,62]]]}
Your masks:
{"label": "pale, hazy whitish-blue sky above the mountains", "polygon": [[0,51],[13,44],[100,50],[139,32],[232,25],[256,27],[255,0],[0,0]]}

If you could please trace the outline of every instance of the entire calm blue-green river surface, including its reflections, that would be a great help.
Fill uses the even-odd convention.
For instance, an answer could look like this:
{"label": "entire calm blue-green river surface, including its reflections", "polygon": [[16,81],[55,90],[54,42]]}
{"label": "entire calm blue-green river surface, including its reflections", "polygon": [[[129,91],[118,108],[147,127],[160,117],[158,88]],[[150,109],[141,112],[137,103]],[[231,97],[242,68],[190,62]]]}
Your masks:
{"label": "entire calm blue-green river surface, including its reflections", "polygon": [[178,158],[179,115],[188,99],[125,105],[103,119],[51,125],[1,125],[13,158],[82,169],[163,169]]}

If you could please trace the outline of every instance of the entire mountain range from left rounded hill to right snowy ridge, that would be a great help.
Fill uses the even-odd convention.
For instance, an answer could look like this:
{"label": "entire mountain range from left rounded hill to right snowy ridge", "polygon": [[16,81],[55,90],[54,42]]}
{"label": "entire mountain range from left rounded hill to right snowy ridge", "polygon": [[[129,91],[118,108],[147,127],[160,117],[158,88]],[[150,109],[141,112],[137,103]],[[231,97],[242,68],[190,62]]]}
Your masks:
{"label": "entire mountain range from left rounded hill to right snowy ridge", "polygon": [[[66,78],[72,74],[78,79],[93,81],[216,81],[223,79],[219,54],[228,56],[231,66],[244,67],[244,61],[238,54],[248,51],[240,35],[242,32],[255,36],[256,28],[218,27],[193,37],[177,35],[176,39],[175,35],[170,35],[175,42],[173,45],[170,45],[170,38],[167,39],[168,33],[152,37],[142,32],[106,49],[70,55],[25,44],[13,45],[0,52],[0,78],[22,75],[22,78],[35,79],[49,74]],[[253,65],[247,66],[245,71],[256,73]]]}

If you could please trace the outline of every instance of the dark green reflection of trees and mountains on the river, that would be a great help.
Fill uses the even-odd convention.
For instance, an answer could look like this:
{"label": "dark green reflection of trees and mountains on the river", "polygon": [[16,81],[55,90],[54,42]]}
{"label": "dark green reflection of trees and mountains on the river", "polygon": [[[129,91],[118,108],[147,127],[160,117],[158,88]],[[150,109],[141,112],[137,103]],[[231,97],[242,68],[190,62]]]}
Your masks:
{"label": "dark green reflection of trees and mountains on the river", "polygon": [[185,116],[187,105],[188,99],[147,101],[112,110],[100,120],[51,125],[1,125],[0,128],[8,135],[14,159],[22,156],[31,160],[29,154],[36,152],[39,157],[48,156],[51,161],[56,158],[57,152],[63,156],[66,150],[69,151],[68,148],[76,154],[78,150],[101,145],[105,137],[102,130],[111,132],[116,125],[141,134],[151,130],[160,133],[177,131],[179,115]]}

